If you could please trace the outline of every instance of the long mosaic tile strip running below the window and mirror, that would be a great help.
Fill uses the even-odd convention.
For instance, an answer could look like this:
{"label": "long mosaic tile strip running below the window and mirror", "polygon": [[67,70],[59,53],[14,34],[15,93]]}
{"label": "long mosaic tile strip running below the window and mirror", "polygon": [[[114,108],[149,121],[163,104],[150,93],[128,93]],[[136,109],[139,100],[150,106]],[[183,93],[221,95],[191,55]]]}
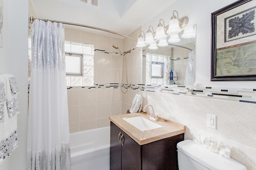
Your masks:
{"label": "long mosaic tile strip running below the window and mirror", "polygon": [[[142,86],[142,90],[147,92],[160,92],[182,96],[193,96],[217,100],[228,100],[233,102],[246,102],[256,104],[256,89],[252,88],[217,88],[217,87],[196,87],[179,85],[149,85],[149,84],[94,84],[94,86],[68,87],[70,88],[128,88],[137,90]],[[188,92],[188,88],[193,92]]]}

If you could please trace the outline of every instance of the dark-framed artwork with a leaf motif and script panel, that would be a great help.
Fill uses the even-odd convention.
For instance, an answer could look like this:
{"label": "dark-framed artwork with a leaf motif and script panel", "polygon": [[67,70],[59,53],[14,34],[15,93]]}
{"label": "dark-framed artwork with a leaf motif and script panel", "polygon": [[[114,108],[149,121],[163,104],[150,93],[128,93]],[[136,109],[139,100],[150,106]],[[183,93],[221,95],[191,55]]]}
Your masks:
{"label": "dark-framed artwork with a leaf motif and script panel", "polygon": [[211,81],[256,80],[256,0],[211,14]]}

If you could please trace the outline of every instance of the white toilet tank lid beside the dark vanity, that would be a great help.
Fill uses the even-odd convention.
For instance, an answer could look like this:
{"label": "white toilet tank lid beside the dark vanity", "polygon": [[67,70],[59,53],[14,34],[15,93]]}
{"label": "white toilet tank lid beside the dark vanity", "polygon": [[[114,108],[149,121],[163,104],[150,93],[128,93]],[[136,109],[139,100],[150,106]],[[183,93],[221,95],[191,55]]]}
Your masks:
{"label": "white toilet tank lid beside the dark vanity", "polygon": [[247,170],[243,164],[236,160],[223,158],[219,154],[211,152],[208,148],[194,144],[191,140],[179,142],[177,148],[178,151],[210,170]]}

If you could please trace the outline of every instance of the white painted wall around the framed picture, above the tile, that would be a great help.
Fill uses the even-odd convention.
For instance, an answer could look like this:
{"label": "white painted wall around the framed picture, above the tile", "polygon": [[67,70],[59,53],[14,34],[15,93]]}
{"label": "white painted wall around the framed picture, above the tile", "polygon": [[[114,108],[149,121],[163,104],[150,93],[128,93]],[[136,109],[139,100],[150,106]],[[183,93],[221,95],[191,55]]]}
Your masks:
{"label": "white painted wall around the framed picture, above the tile", "polygon": [[211,13],[233,2],[236,2],[236,0],[177,0],[174,4],[168,6],[152,18],[152,20],[144,24],[143,31],[146,33],[149,25],[152,25],[156,29],[160,18],[164,19],[166,25],[168,25],[172,17],[172,12],[177,10],[179,18],[183,16],[189,18],[188,26],[196,24],[195,82],[198,83],[198,86],[255,88],[255,81],[210,81]]}

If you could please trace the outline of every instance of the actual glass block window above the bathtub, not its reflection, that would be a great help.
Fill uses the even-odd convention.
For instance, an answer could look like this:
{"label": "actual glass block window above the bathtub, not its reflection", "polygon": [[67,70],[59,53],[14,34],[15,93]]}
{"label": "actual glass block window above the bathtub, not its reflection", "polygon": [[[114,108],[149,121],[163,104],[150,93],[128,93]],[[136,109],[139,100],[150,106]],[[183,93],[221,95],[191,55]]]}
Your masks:
{"label": "actual glass block window above the bathtub, not its reflection", "polygon": [[94,85],[94,45],[65,41],[67,86]]}

